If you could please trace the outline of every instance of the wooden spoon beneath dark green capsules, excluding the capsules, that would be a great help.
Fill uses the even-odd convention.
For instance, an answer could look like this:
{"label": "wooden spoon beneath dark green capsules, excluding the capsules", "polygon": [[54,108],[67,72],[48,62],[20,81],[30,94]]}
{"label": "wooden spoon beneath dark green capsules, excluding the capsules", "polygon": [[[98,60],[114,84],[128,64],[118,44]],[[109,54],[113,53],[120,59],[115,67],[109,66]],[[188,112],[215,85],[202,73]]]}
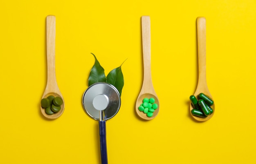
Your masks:
{"label": "wooden spoon beneath dark green capsules, excluding the capsules", "polygon": [[[204,17],[197,18],[197,38],[198,38],[198,86],[195,90],[195,97],[198,97],[199,93],[204,93],[209,98],[212,98],[211,93],[207,87],[206,82],[206,20]],[[208,115],[206,118],[201,118],[192,115],[192,117],[197,121],[207,121],[215,113],[215,105],[211,106],[213,113]],[[190,111],[193,109],[192,104],[190,104]],[[191,112],[190,112],[191,113]]]}

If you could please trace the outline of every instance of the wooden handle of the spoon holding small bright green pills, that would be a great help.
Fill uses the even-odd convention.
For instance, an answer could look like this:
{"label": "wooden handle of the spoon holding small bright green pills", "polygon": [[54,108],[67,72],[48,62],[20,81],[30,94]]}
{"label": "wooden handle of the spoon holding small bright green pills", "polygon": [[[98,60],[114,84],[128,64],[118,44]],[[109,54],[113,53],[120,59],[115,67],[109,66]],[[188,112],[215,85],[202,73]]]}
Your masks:
{"label": "wooden handle of the spoon holding small bright green pills", "polygon": [[142,27],[142,51],[143,51],[143,64],[144,64],[144,80],[142,88],[144,85],[152,85],[151,78],[151,66],[150,66],[150,17],[141,17],[141,27]]}

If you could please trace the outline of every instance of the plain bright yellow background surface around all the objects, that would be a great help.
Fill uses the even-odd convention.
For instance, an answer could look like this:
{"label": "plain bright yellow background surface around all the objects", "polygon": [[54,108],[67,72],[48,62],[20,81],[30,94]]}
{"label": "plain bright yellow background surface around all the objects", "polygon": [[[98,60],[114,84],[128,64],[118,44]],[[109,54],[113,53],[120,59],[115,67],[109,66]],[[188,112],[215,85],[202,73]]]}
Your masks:
{"label": "plain bright yellow background surface around all the objects", "polygon": [[[40,113],[47,81],[46,16],[56,16],[56,78],[65,111]],[[151,19],[157,117],[139,120],[141,16]],[[255,164],[255,0],[0,2],[0,163],[100,164],[98,122],[82,95],[97,56],[122,65],[121,109],[106,122],[109,164]],[[207,83],[216,111],[189,115],[198,78],[196,18],[207,20]]]}

